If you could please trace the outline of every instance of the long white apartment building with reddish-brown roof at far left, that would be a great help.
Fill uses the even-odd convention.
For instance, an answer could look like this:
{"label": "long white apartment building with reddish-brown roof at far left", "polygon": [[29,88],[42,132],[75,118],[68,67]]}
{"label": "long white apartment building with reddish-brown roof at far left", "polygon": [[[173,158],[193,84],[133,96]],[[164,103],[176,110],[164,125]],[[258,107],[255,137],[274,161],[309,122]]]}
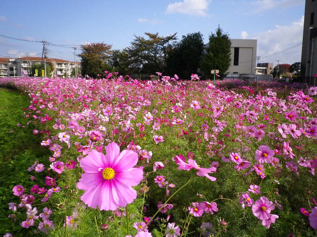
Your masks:
{"label": "long white apartment building with reddish-brown roof at far left", "polygon": [[[59,58],[46,58],[47,64],[52,66],[52,75],[70,77],[73,69],[81,64]],[[41,64],[42,57],[0,58],[0,76],[34,76],[31,75],[32,64]],[[40,75],[39,75],[40,76]]]}

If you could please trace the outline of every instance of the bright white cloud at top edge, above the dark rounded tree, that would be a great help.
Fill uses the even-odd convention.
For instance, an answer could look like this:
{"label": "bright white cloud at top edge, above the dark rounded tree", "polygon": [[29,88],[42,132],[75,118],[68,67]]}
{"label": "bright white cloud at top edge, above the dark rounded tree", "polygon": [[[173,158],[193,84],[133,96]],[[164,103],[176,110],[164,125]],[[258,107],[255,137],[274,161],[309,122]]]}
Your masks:
{"label": "bright white cloud at top edge, above the dark rounded tree", "polygon": [[166,14],[182,13],[189,15],[208,16],[206,11],[210,0],[184,0],[183,2],[171,3],[167,6]]}

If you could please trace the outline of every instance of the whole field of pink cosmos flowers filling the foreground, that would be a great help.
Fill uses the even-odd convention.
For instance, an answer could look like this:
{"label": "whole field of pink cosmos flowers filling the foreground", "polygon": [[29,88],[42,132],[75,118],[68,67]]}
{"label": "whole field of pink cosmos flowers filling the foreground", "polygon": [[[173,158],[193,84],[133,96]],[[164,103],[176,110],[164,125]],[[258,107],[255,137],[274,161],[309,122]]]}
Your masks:
{"label": "whole field of pink cosmos flowers filling the foreground", "polygon": [[12,185],[12,222],[48,236],[315,236],[317,87],[158,76],[0,78],[29,95],[18,126],[52,152]]}

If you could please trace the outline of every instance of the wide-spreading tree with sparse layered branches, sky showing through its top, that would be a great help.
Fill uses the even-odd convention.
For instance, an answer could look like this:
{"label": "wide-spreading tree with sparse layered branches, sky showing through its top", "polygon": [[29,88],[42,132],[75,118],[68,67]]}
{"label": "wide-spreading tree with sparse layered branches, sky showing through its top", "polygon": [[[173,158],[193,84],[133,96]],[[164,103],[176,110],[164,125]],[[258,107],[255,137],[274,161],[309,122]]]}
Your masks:
{"label": "wide-spreading tree with sparse layered branches, sky showing through its top", "polygon": [[159,33],[145,33],[148,39],[135,36],[131,46],[125,51],[130,58],[130,66],[139,69],[140,73],[155,73],[165,70],[168,51],[175,45],[175,34],[160,37]]}

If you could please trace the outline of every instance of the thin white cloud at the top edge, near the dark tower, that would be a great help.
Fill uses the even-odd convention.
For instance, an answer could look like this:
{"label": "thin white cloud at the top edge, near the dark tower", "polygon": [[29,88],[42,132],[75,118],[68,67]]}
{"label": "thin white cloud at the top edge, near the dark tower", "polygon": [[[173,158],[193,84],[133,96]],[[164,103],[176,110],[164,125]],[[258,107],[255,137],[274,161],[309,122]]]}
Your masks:
{"label": "thin white cloud at the top edge, near the dark tower", "polygon": [[253,13],[264,12],[270,9],[281,9],[290,6],[296,6],[299,4],[305,3],[305,0],[257,0],[249,2],[254,9]]}

